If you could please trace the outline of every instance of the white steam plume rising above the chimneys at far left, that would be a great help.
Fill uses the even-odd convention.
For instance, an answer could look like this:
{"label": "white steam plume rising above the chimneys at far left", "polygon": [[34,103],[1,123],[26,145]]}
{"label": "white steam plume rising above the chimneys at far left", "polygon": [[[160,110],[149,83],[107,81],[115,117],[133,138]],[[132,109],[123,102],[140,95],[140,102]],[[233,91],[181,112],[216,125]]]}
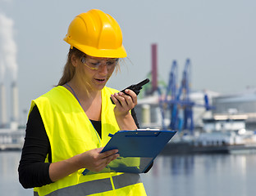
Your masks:
{"label": "white steam plume rising above the chimneys at far left", "polygon": [[0,61],[1,78],[4,77],[5,65],[11,71],[12,80],[17,80],[18,65],[16,63],[17,47],[14,41],[14,22],[0,13]]}

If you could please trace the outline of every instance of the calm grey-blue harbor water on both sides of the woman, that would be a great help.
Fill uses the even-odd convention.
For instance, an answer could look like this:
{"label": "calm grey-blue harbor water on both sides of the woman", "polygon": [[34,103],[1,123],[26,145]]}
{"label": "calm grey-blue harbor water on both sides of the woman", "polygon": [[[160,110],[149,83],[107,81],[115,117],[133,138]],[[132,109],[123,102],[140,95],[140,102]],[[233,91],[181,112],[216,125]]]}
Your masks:
{"label": "calm grey-blue harbor water on both sides of the woman", "polygon": [[[18,182],[21,152],[0,152],[0,195],[33,195]],[[141,175],[149,196],[255,195],[256,154],[159,156]]]}

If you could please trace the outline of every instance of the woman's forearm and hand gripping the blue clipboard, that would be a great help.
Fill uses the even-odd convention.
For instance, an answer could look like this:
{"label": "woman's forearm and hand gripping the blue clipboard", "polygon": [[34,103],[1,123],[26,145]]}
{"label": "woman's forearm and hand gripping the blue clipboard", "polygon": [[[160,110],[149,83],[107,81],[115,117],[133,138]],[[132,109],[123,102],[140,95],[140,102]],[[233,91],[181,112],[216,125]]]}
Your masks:
{"label": "woman's forearm and hand gripping the blue clipboard", "polygon": [[49,167],[49,176],[52,181],[57,181],[81,168],[90,171],[101,171],[107,167],[109,163],[119,157],[118,149],[108,150],[100,153],[103,148],[91,149],[82,154],[77,154],[72,158],[51,163]]}

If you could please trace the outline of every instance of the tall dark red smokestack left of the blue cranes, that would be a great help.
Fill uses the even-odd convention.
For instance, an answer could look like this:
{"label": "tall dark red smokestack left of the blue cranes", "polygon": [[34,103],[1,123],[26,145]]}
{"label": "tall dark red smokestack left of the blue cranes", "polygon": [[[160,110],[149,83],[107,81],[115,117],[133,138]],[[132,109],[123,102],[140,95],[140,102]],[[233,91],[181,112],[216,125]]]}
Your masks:
{"label": "tall dark red smokestack left of the blue cranes", "polygon": [[156,43],[151,45],[152,52],[152,92],[158,90],[158,45]]}

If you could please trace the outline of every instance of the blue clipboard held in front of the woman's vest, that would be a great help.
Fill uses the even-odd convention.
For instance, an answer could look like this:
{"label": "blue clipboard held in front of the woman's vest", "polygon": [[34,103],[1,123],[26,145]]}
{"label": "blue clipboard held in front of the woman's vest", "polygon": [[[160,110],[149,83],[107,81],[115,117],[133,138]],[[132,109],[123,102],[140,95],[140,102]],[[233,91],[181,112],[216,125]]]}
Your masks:
{"label": "blue clipboard held in front of the woman's vest", "polygon": [[[118,149],[120,157],[112,161],[102,172],[143,173],[153,163],[176,131],[138,129],[135,131],[118,131],[108,141],[102,153]],[[95,172],[85,169],[83,175]]]}

